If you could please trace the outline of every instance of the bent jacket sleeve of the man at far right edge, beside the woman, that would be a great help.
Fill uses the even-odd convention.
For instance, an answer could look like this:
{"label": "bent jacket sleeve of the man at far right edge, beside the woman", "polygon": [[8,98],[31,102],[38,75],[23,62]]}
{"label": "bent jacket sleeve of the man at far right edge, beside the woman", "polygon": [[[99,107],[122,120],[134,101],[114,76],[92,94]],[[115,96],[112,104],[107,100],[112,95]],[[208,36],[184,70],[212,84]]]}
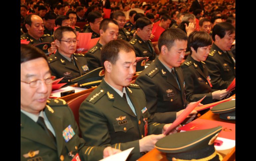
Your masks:
{"label": "bent jacket sleeve of the man at far right edge, beside the woman", "polygon": [[208,67],[208,72],[211,77],[211,84],[212,88],[214,89],[226,89],[229,84],[231,83],[230,81],[224,81],[221,78],[221,73],[220,73],[220,66],[219,63],[211,56],[208,56],[206,61],[206,66]]}

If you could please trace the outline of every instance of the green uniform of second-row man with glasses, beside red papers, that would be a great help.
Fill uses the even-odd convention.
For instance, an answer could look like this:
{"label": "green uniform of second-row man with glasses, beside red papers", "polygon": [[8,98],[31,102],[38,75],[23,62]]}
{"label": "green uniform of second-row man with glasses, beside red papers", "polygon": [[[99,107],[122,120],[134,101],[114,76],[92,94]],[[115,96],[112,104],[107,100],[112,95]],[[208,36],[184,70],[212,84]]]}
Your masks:
{"label": "green uniform of second-row man with glasses, beside red papers", "polygon": [[74,53],[72,55],[76,66],[61,55],[59,51],[48,57],[52,75],[56,76],[57,79],[64,77],[61,83],[67,83],[66,85],[72,84],[71,79],[90,71],[84,54]]}

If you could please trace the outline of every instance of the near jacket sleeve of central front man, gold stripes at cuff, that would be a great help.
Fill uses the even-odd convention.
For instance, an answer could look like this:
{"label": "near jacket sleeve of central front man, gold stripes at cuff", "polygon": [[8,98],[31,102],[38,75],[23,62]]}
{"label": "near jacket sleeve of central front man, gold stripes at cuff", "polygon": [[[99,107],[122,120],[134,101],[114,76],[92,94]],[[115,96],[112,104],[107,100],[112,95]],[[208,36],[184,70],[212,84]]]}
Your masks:
{"label": "near jacket sleeve of central front man, gold stripes at cuff", "polygon": [[141,157],[139,140],[111,145],[107,119],[104,118],[101,112],[97,111],[94,104],[86,100],[81,104],[79,109],[79,124],[82,137],[87,144],[104,147],[111,146],[122,151],[134,147],[131,154],[136,158]]}

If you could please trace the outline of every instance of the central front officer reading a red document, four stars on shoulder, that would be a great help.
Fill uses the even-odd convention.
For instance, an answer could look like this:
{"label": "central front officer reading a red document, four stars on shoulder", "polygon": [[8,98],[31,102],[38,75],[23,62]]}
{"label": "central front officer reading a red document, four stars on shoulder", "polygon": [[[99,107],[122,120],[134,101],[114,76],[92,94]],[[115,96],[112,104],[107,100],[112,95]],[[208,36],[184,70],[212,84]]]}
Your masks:
{"label": "central front officer reading a red document, four stars on shoulder", "polygon": [[[124,40],[112,40],[102,49],[105,77],[79,109],[82,137],[89,145],[134,149],[128,161],[154,148],[170,124],[153,123],[145,95],[130,84],[136,68],[135,52]],[[159,134],[159,135],[151,135]]]}

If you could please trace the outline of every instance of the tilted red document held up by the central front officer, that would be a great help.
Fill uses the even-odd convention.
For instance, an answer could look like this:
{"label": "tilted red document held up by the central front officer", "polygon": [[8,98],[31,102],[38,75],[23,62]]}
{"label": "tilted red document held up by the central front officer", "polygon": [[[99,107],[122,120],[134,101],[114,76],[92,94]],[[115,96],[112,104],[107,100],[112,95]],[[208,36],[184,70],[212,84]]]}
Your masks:
{"label": "tilted red document held up by the central front officer", "polygon": [[201,100],[192,103],[186,107],[186,109],[181,113],[181,115],[171,124],[171,126],[165,131],[164,135],[170,133],[172,130],[175,129],[179,124],[181,124],[187,116],[194,110],[194,108],[205,98],[204,96]]}

